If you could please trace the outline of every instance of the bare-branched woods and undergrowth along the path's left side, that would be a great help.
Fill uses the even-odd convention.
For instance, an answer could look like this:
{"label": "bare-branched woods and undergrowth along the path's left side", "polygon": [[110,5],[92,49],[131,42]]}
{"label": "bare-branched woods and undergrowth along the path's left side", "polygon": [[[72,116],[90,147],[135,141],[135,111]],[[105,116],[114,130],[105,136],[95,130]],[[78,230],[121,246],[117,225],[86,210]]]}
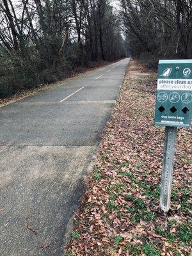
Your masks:
{"label": "bare-branched woods and undergrowth along the path's left side", "polygon": [[109,0],[1,0],[0,97],[125,56]]}

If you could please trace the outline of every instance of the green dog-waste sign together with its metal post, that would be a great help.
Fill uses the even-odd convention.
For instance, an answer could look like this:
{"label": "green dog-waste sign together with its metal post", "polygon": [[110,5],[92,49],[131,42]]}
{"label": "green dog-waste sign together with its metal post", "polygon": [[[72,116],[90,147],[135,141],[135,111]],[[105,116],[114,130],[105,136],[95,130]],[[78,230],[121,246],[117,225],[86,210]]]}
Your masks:
{"label": "green dog-waste sign together with its metal post", "polygon": [[170,209],[177,127],[190,127],[192,115],[192,60],[160,60],[155,125],[165,129],[160,207]]}

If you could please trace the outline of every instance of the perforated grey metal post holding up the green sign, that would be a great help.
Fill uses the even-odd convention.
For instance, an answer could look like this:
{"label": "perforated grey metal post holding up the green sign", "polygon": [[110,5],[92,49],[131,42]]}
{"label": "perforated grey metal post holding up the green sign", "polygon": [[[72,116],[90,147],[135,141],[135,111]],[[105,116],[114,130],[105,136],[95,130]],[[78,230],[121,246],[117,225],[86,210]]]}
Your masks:
{"label": "perforated grey metal post holding up the green sign", "polygon": [[177,127],[167,126],[165,129],[160,197],[160,206],[164,212],[168,212],[170,209],[176,137]]}

